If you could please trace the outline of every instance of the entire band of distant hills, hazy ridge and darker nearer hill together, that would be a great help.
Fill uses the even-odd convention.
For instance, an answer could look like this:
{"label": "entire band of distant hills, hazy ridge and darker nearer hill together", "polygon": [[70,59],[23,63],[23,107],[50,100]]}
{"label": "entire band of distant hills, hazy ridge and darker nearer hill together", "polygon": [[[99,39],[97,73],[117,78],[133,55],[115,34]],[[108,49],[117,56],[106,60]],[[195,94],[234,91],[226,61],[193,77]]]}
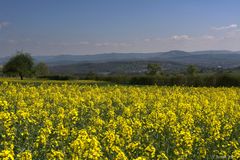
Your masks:
{"label": "entire band of distant hills, hazy ridge and darker nearer hill together", "polygon": [[[96,55],[34,56],[36,62],[45,62],[57,73],[82,72],[142,72],[148,63],[159,63],[167,71],[186,68],[195,64],[202,68],[223,69],[240,66],[240,52],[213,50],[184,52],[173,50],[156,53],[103,53]],[[0,58],[0,65],[9,57]]]}

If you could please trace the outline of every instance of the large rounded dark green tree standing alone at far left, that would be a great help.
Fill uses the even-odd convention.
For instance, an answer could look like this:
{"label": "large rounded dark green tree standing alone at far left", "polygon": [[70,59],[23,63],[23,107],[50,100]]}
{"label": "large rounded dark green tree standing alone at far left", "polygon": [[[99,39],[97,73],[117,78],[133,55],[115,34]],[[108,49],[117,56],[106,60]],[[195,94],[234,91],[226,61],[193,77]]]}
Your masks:
{"label": "large rounded dark green tree standing alone at far left", "polygon": [[32,74],[33,59],[28,53],[18,51],[15,56],[3,66],[3,73],[17,74],[23,80],[24,76]]}

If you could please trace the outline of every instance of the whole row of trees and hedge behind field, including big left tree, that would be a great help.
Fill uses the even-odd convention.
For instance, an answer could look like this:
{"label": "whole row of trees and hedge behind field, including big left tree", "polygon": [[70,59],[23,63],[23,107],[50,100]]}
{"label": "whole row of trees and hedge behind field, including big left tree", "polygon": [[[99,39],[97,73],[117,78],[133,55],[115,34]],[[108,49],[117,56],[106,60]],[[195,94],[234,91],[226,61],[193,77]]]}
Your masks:
{"label": "whole row of trees and hedge behind field, including big left tree", "polygon": [[97,75],[91,72],[87,75],[52,75],[48,66],[43,63],[34,63],[29,53],[18,51],[17,54],[3,66],[2,72],[8,76],[41,77],[49,80],[88,79],[109,81],[130,85],[165,85],[165,86],[240,86],[240,76],[216,72],[209,75],[199,74],[195,65],[188,65],[185,74],[166,74],[157,63],[149,63],[145,75]]}

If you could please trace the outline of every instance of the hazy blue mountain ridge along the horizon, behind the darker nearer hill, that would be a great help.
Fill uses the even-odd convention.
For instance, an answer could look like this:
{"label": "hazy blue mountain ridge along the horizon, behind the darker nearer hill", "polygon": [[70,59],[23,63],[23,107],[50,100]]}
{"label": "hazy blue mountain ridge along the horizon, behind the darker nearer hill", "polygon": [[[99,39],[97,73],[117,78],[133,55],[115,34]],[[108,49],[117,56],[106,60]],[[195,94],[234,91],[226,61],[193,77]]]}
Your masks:
{"label": "hazy blue mountain ridge along the horizon, behind the darker nearer hill", "polygon": [[[0,58],[3,65],[10,57]],[[50,67],[83,63],[156,61],[174,62],[183,65],[195,64],[203,67],[234,68],[240,66],[240,51],[206,50],[186,52],[171,50],[152,53],[102,53],[95,55],[48,55],[33,56],[35,62],[45,62]]]}

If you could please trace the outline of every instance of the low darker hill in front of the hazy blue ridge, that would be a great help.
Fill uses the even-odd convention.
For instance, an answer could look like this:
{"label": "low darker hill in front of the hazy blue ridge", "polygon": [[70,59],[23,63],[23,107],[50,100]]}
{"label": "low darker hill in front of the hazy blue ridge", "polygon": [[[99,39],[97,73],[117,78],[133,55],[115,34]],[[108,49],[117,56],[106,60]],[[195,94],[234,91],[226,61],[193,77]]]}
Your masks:
{"label": "low darker hill in front of the hazy blue ridge", "polygon": [[177,72],[185,69],[185,65],[175,62],[165,61],[116,61],[116,62],[99,62],[99,63],[78,63],[70,65],[51,66],[52,72],[57,74],[72,73],[72,74],[87,74],[94,72],[98,74],[142,74],[147,71],[149,63],[158,63],[162,69],[167,72]]}

